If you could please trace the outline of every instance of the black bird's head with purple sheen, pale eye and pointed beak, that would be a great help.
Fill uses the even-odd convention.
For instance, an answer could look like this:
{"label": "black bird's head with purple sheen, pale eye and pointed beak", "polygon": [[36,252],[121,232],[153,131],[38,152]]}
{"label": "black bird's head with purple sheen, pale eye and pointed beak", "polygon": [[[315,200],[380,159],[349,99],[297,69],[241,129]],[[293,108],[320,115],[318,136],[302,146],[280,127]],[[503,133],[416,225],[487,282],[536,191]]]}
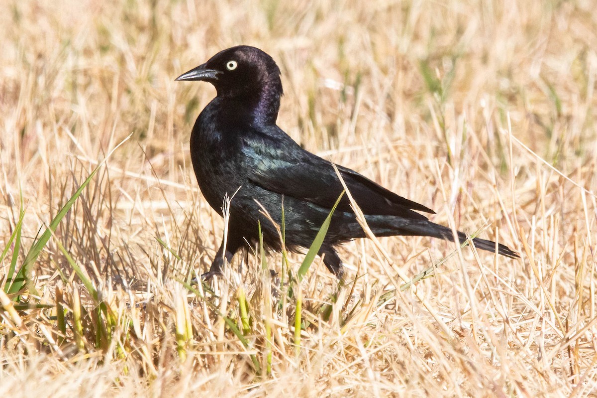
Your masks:
{"label": "black bird's head with purple sheen, pale eye and pointed beak", "polygon": [[282,96],[280,69],[259,48],[248,45],[227,48],[176,80],[210,82],[216,87],[218,97],[245,103],[263,123],[275,123],[278,117]]}

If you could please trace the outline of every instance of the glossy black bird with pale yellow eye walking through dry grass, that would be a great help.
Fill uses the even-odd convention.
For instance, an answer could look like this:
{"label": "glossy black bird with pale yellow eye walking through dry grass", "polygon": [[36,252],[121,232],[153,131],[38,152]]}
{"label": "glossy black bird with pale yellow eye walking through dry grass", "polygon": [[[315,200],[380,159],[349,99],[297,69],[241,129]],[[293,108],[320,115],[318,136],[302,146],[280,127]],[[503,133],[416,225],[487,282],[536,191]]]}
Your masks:
{"label": "glossy black bird with pale yellow eye walking through dry grass", "polygon": [[[258,221],[267,247],[280,249],[278,232],[262,209],[279,225],[283,204],[286,247],[298,250],[310,246],[343,191],[329,161],[305,151],[276,125],[282,96],[279,75],[269,55],[258,48],[239,46],[220,51],[177,79],[208,81],[216,87],[217,97],[193,127],[191,159],[202,194],[220,215],[224,198],[234,194],[226,249],[222,244],[209,275],[221,273],[224,258],[230,261],[239,249],[257,241]],[[417,213],[433,210],[353,170],[337,167],[374,234],[454,239],[450,229]],[[324,256],[328,269],[341,277],[343,268],[334,248],[364,236],[344,197],[319,255]],[[466,240],[462,232],[458,232],[458,240]],[[473,242],[479,249],[496,249],[492,241],[476,238]],[[497,250],[518,257],[501,244]]]}

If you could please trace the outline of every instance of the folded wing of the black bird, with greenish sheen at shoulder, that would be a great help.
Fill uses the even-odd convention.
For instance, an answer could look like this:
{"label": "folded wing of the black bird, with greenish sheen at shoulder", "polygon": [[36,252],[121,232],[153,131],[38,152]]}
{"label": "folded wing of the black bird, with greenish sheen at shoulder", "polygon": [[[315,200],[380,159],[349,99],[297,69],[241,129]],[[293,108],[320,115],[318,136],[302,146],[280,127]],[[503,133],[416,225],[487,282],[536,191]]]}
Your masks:
{"label": "folded wing of the black bird, with greenish sheen at shoulder", "polygon": [[[278,129],[279,130],[279,129]],[[242,152],[248,180],[268,191],[299,198],[331,209],[343,191],[330,161],[304,151],[284,131],[244,134]],[[367,177],[337,166],[347,188],[365,215],[393,215],[426,219],[413,212],[435,213],[422,204],[396,195]],[[346,195],[337,207],[352,212]]]}

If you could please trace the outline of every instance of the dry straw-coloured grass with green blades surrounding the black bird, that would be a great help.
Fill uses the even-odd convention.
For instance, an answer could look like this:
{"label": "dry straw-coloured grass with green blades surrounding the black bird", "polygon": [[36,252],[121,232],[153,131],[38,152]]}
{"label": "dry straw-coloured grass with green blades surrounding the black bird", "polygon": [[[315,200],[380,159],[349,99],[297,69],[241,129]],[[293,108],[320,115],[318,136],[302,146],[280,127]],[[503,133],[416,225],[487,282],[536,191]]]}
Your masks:
{"label": "dry straw-coloured grass with green blades surrounding the black bird", "polygon": [[[521,259],[358,240],[346,286],[278,254],[190,289],[215,90],[174,78],[236,44],[305,148]],[[0,48],[0,396],[597,396],[595,2],[5,0]]]}

